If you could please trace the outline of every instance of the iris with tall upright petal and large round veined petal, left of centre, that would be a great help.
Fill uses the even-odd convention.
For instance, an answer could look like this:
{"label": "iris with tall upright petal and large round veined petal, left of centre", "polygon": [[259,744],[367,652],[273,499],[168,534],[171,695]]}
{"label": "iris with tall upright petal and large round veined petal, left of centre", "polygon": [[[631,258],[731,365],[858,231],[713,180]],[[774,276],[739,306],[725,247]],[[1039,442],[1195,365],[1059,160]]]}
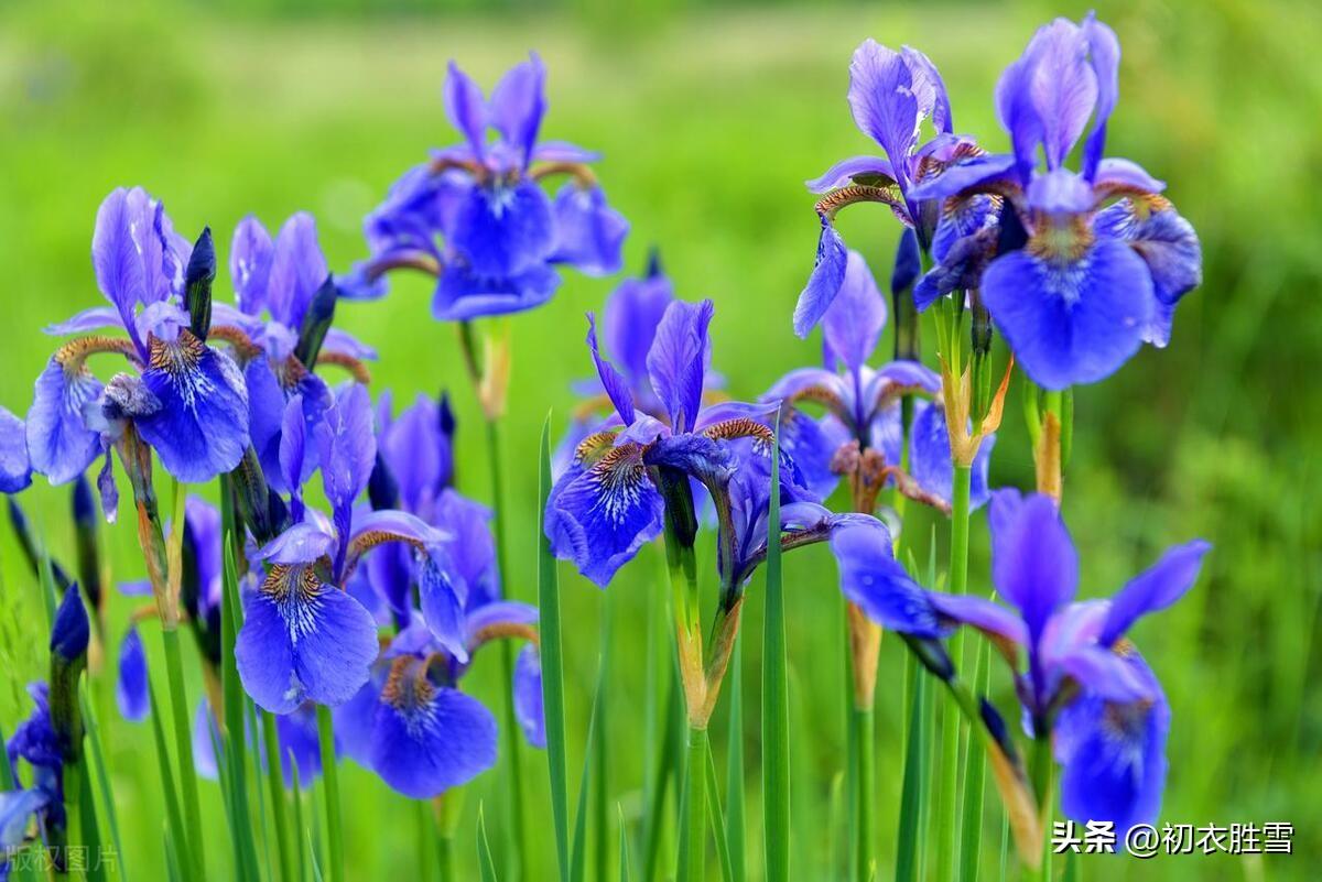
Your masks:
{"label": "iris with tall upright petal and large round veined petal, left of centre", "polygon": [[[428,552],[444,539],[407,512],[354,516],[377,454],[364,387],[348,386],[315,436],[332,518],[300,512],[260,549],[270,568],[260,588],[245,598],[247,614],[234,648],[245,689],[272,713],[290,713],[304,701],[342,704],[366,681],[378,652],[377,625],[344,590],[358,557],[391,541]],[[290,450],[282,461],[288,474],[297,474],[301,450]]]}

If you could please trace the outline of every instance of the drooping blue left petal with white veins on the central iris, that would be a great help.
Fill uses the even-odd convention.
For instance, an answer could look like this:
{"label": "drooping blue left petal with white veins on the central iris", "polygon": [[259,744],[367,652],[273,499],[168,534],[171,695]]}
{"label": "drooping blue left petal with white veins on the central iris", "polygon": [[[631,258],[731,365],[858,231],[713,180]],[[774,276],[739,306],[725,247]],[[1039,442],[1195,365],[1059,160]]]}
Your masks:
{"label": "drooping blue left petal with white veins on the central iris", "polygon": [[612,448],[586,469],[571,467],[546,508],[551,551],[602,588],[661,533],[661,494],[633,444]]}

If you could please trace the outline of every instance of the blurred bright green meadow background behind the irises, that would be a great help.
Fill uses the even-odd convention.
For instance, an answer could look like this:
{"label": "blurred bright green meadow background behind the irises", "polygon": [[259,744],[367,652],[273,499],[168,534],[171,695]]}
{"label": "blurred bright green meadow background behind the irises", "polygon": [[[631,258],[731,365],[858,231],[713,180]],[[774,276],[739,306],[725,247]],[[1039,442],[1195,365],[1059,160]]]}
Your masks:
{"label": "blurred bright green meadow background behind the irises", "polygon": [[[440,107],[446,62],[490,86],[529,49],[550,69],[545,135],[598,148],[600,178],[632,222],[628,264],[661,248],[680,296],[711,297],[715,366],[736,397],[760,393],[813,362],[816,342],[789,329],[812,264],[816,218],[804,178],[871,149],[845,102],[850,53],[865,37],[925,50],[940,67],[956,128],[993,151],[1005,136],[992,94],[1040,21],[1087,4],[927,3],[709,8],[661,0],[461,3],[443,12],[408,0],[233,0],[157,5],[22,3],[0,12],[0,404],[24,413],[53,349],[40,333],[99,300],[89,260],[97,205],[141,184],[176,226],[217,231],[222,265],[246,213],[268,226],[307,209],[334,269],[362,256],[362,215],[428,147],[455,140]],[[383,12],[387,9],[389,12]],[[1314,879],[1322,860],[1322,648],[1315,636],[1322,520],[1314,502],[1322,432],[1322,17],[1282,0],[1140,0],[1105,4],[1124,58],[1109,154],[1169,182],[1198,227],[1206,281],[1179,309],[1171,346],[1145,349],[1110,380],[1076,395],[1076,445],[1066,516],[1080,545],[1083,592],[1109,594],[1173,541],[1215,544],[1203,578],[1177,609],[1134,634],[1174,710],[1163,820],[1293,821],[1285,857],[1084,862],[1088,878]],[[842,215],[853,247],[887,277],[896,224],[884,209]],[[514,367],[505,434],[509,593],[534,599],[535,444],[547,408],[558,429],[570,380],[588,372],[583,312],[613,280],[570,275],[557,298],[512,321]],[[222,271],[218,297],[229,298]],[[460,413],[460,485],[489,499],[476,401],[453,327],[436,325],[430,290],[397,281],[390,298],[346,305],[341,323],[377,346],[374,390],[395,400],[448,387]],[[888,347],[883,341],[883,350]],[[1011,392],[1015,399],[1018,388]],[[1017,400],[993,459],[994,483],[1031,486]],[[127,492],[127,489],[124,489]],[[71,560],[67,492],[38,479],[24,496],[58,556]],[[925,524],[919,529],[927,531]],[[28,713],[22,684],[44,676],[37,590],[0,540],[0,722]],[[107,529],[116,577],[143,574],[131,523]],[[972,582],[986,578],[985,518],[974,520]],[[832,788],[843,754],[841,602],[825,553],[787,561],[795,750],[796,877],[834,878],[842,834]],[[642,761],[645,610],[661,573],[646,549],[605,594],[562,569],[568,631],[571,792],[596,677],[599,619],[613,617],[609,665],[609,799],[636,831]],[[758,819],[760,578],[746,607],[750,817]],[[128,603],[116,598],[112,639]],[[155,651],[159,640],[147,635]],[[112,652],[112,648],[111,648]],[[878,697],[879,878],[892,873],[899,801],[902,648],[883,647]],[[498,663],[479,658],[471,689],[497,706]],[[107,669],[108,675],[108,669]],[[1013,706],[1006,679],[1001,706]],[[160,878],[164,817],[145,728],[115,720],[111,679],[97,685],[110,742],[124,860]],[[200,681],[192,684],[200,695]],[[723,714],[713,743],[723,747]],[[723,768],[723,749],[718,763]],[[550,878],[553,840],[542,757],[534,782],[530,878]],[[346,772],[350,878],[407,874],[416,811],[371,775]],[[218,790],[208,820],[225,853]],[[469,844],[479,801],[500,834],[498,772],[468,788],[460,878],[476,878]],[[999,808],[988,797],[986,867]],[[760,823],[750,824],[760,852]],[[607,846],[615,848],[611,832]],[[613,866],[613,858],[612,866]],[[756,867],[758,858],[752,858]],[[217,867],[219,865],[217,864]],[[217,878],[225,871],[217,869]]]}

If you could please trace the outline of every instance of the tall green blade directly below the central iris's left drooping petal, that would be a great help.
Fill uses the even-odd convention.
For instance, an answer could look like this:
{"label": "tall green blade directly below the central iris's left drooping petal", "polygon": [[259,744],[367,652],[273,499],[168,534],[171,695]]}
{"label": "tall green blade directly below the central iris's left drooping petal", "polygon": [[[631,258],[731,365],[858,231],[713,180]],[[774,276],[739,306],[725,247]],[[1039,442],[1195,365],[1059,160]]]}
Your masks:
{"label": "tall green blade directly below the central iris's left drooping petal", "polygon": [[546,499],[551,492],[551,415],[542,424],[538,457],[537,602],[541,610],[542,706],[546,717],[546,764],[551,778],[551,819],[561,882],[570,882],[568,796],[564,754],[564,656],[561,644],[561,590],[555,556],[546,537]]}

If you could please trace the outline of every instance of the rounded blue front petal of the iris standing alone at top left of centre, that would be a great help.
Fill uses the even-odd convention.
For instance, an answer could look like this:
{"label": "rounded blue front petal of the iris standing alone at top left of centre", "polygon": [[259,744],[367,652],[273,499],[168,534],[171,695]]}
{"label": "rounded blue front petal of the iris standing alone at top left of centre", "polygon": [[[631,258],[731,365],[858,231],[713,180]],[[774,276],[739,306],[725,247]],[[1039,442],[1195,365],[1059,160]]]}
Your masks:
{"label": "rounded blue front petal of the iris standing alone at top left of centre", "polygon": [[522,275],[555,250],[551,202],[531,181],[475,187],[455,218],[451,244],[477,276]]}

